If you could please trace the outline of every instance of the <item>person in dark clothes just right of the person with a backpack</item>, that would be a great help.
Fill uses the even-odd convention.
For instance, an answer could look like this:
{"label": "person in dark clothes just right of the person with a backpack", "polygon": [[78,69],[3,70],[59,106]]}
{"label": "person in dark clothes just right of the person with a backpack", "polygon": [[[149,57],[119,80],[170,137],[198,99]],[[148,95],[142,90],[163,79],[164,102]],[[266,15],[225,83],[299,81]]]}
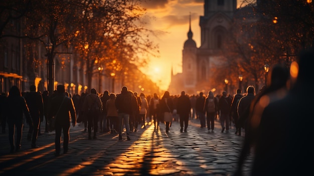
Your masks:
{"label": "person in dark clothes just right of the person with a backpack", "polygon": [[[229,115],[230,115],[230,107],[231,107],[231,101],[230,98],[227,95],[226,91],[222,92],[222,96],[219,99],[219,105],[218,109],[220,111],[220,124],[221,124],[221,132],[224,132],[226,129],[226,132],[229,132]],[[225,126],[226,124],[226,126]]]}

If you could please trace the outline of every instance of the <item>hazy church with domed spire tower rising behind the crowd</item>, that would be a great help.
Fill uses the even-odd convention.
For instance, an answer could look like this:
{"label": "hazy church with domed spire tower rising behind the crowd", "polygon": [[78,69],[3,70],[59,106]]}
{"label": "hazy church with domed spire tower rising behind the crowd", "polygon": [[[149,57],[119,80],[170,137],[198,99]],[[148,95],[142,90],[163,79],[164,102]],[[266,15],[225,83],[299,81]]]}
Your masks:
{"label": "hazy church with domed spire tower rising behind the crowd", "polygon": [[[228,30],[237,7],[236,0],[216,0],[204,3],[204,16],[200,17],[201,46],[197,48],[193,40],[191,29],[191,16],[188,39],[182,51],[182,73],[173,75],[169,91],[180,94],[198,94],[203,91],[215,90],[216,85],[211,84],[214,74],[213,67],[226,64],[222,52]],[[218,92],[217,92],[218,93]]]}

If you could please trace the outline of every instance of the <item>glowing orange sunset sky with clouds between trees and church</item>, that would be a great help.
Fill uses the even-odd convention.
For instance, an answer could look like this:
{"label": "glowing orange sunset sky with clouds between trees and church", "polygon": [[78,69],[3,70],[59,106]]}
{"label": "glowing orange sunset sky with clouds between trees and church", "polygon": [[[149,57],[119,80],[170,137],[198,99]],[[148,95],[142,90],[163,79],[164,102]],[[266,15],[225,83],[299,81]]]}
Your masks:
{"label": "glowing orange sunset sky with clouds between trees and church", "polygon": [[141,70],[162,90],[167,90],[171,68],[174,74],[182,72],[182,50],[188,39],[190,13],[193,40],[200,47],[199,18],[204,15],[204,0],[147,0],[144,7],[147,9],[146,17],[154,18],[149,20],[148,28],[165,33],[151,36],[151,40],[159,45],[160,56],[151,57],[149,64]]}

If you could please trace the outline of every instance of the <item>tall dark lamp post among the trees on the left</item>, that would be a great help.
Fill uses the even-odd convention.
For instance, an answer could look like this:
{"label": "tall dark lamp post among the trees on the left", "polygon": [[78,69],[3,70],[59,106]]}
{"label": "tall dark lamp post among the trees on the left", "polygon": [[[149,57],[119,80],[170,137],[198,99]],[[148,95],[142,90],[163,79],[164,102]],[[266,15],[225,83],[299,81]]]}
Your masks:
{"label": "tall dark lamp post among the trees on the left", "polygon": [[52,43],[49,41],[46,44],[46,50],[47,50],[47,89],[49,92],[49,95],[52,95],[55,87],[55,64],[53,60],[53,52],[52,52]]}

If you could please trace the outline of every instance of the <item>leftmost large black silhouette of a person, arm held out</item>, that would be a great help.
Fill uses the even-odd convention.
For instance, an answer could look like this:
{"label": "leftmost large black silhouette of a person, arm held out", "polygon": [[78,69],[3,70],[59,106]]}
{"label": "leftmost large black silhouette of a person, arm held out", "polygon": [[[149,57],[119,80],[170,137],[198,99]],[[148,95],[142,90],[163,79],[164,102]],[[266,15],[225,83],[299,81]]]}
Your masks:
{"label": "leftmost large black silhouette of a person, arm held out", "polygon": [[[9,141],[13,153],[21,149],[23,119],[24,115],[30,126],[33,126],[32,118],[25,99],[17,86],[12,86],[9,91],[9,96],[5,104],[5,116],[7,117],[9,126]],[[15,128],[17,129],[17,140],[15,142]]]}

